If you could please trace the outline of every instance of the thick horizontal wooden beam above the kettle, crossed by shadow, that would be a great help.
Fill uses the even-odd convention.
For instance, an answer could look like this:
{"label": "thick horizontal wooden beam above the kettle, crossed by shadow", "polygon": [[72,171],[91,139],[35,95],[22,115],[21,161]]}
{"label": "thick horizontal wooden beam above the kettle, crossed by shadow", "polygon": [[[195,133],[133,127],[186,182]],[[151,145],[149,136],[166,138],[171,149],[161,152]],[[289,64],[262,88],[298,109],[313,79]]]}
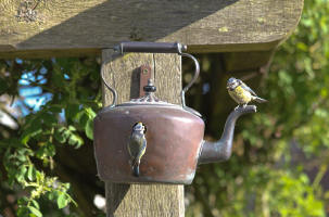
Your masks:
{"label": "thick horizontal wooden beam above the kettle, crossed by shadow", "polygon": [[303,0],[2,0],[0,58],[94,55],[127,40],[180,41],[189,52],[271,50],[302,8]]}

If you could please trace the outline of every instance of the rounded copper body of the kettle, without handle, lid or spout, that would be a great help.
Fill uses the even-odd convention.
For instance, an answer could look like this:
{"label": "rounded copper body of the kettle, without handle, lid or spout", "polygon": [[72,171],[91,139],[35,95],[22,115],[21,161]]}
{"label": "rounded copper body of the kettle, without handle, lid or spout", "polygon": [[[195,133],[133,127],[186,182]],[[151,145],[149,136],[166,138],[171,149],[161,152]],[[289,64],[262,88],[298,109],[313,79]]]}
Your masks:
{"label": "rounded copper body of the kettle, without handle, lid or spout", "polygon": [[[127,150],[132,126],[147,128],[140,176],[131,173]],[[204,123],[178,105],[130,105],[104,108],[94,119],[99,176],[111,182],[189,184],[195,174]]]}

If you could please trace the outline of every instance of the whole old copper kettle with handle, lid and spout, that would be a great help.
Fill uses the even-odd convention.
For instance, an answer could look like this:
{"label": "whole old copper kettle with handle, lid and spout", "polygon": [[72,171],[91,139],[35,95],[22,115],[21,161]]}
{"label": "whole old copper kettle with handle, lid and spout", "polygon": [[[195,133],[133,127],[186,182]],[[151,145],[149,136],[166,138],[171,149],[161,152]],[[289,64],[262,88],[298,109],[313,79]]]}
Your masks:
{"label": "whole old copper kettle with handle, lid and spout", "polygon": [[[199,164],[227,161],[231,155],[235,124],[245,113],[255,113],[256,106],[233,110],[227,117],[222,138],[216,142],[203,140],[204,122],[201,115],[186,106],[185,92],[197,80],[199,62],[180,43],[123,42],[118,52],[177,53],[193,60],[194,77],[181,91],[182,105],[163,102],[155,97],[152,81],[144,87],[145,95],[116,104],[116,91],[103,79],[114,94],[112,105],[94,118],[94,154],[99,176],[104,181],[118,183],[179,183],[190,184]],[[103,78],[103,75],[102,75]],[[147,149],[140,159],[140,174],[134,176],[127,144],[136,123],[147,130]]]}

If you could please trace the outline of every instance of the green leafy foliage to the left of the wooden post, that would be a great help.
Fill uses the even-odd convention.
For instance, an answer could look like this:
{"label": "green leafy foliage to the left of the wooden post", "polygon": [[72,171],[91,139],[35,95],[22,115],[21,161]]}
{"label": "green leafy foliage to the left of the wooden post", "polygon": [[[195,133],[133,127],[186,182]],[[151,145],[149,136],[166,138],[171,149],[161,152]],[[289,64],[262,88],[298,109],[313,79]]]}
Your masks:
{"label": "green leafy foliage to the left of the wooden post", "polygon": [[[52,94],[40,110],[31,107],[29,114],[22,117],[16,138],[1,135],[0,153],[3,154],[7,170],[5,181],[11,188],[29,192],[18,200],[17,216],[42,216],[38,204],[41,197],[55,203],[60,209],[69,203],[77,205],[69,195],[69,183],[50,176],[49,171],[55,167],[53,157],[59,145],[78,149],[87,138],[92,139],[94,111],[100,107],[99,67],[96,62],[88,61],[69,59],[2,64],[7,69],[14,67],[31,72],[27,78],[28,87],[41,87],[42,93]],[[11,72],[20,75],[16,82],[25,73],[20,69]],[[47,74],[42,73],[45,71]],[[47,81],[38,80],[40,76]],[[85,84],[89,86],[84,88]],[[1,88],[3,92],[17,94],[11,92],[8,86]],[[87,138],[84,138],[85,135]]]}

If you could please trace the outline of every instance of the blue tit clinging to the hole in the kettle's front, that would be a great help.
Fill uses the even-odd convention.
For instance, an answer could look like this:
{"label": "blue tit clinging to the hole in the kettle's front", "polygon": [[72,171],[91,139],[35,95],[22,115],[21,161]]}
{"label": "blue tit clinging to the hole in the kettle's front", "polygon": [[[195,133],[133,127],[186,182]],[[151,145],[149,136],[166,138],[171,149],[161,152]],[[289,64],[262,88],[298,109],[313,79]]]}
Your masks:
{"label": "blue tit clinging to the hole in the kettle's front", "polygon": [[131,157],[132,175],[139,177],[140,159],[147,150],[145,126],[137,123],[132,127],[130,140],[128,143],[128,152]]}

